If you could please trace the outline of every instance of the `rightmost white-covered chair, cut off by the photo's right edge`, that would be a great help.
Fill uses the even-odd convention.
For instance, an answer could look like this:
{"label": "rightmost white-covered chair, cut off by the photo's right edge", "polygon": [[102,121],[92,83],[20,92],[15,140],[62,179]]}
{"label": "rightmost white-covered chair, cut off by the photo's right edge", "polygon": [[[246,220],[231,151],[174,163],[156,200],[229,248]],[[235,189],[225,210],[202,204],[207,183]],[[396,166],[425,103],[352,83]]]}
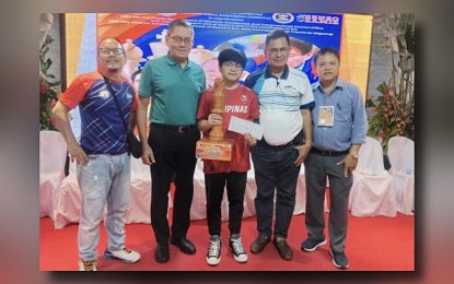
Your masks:
{"label": "rightmost white-covered chair, cut off by the photo's right edge", "polygon": [[397,211],[411,215],[415,211],[415,142],[405,137],[391,138],[388,158]]}

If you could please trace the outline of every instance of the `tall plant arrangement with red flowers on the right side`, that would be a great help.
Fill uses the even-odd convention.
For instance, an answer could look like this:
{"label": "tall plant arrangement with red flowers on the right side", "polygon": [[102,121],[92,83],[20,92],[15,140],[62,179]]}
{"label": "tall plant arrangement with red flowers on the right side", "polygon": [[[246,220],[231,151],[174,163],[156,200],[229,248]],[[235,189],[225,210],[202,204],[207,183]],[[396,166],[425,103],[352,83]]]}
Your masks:
{"label": "tall plant arrangement with red flowers on the right side", "polygon": [[376,90],[380,95],[368,96],[370,109],[368,135],[382,139],[384,153],[392,137],[415,140],[415,15],[375,15],[376,29],[383,35],[381,47],[391,57],[391,79]]}

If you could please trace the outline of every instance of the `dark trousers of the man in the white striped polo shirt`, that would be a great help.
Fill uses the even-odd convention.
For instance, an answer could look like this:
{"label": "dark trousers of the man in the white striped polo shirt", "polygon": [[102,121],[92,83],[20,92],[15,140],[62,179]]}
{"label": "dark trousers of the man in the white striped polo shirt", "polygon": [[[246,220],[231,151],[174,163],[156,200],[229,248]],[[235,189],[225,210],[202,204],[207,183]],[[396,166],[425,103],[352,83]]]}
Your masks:
{"label": "dark trousers of the man in the white striped polo shirt", "polygon": [[259,235],[271,236],[272,215],[276,215],[275,237],[287,238],[292,220],[298,176],[300,168],[293,163],[298,158],[294,145],[302,144],[302,135],[282,146],[270,146],[263,139],[252,149],[252,157],[257,184],[257,197],[254,200],[257,212],[257,230]]}

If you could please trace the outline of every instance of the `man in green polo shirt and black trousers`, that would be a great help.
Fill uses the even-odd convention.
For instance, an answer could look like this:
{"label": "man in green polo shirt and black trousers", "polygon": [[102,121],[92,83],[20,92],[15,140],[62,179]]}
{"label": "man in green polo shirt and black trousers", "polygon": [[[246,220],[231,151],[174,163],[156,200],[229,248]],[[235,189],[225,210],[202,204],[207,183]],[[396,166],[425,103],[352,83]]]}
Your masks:
{"label": "man in green polo shirt and black trousers", "polygon": [[[142,162],[151,168],[151,225],[158,242],[154,259],[160,263],[170,259],[168,241],[184,253],[196,253],[196,247],[186,234],[194,192],[195,147],[200,139],[196,113],[206,87],[203,69],[188,59],[194,43],[193,26],[185,20],[174,20],[167,31],[168,54],[145,63],[137,109]],[[147,140],[150,98],[151,126]],[[170,229],[168,190],[174,174],[175,196]]]}

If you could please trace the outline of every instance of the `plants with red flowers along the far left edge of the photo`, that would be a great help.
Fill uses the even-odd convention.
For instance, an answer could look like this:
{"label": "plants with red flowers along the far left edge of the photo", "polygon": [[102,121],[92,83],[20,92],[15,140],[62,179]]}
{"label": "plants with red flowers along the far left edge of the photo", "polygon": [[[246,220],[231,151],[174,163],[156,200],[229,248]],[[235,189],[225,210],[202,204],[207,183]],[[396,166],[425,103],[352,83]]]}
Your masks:
{"label": "plants with red flowers along the far left edge of the photo", "polygon": [[53,107],[58,99],[59,91],[56,86],[60,85],[60,81],[54,81],[56,76],[48,73],[53,61],[46,56],[49,51],[49,44],[53,42],[54,38],[47,35],[39,50],[39,125],[42,130],[56,130]]}

